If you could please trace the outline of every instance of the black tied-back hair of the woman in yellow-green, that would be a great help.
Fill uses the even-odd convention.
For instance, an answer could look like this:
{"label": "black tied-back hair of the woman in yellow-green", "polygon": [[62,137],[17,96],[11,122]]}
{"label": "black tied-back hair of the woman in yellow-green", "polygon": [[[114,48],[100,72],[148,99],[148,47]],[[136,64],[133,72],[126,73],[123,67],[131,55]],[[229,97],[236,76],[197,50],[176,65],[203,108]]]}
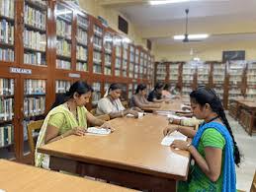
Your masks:
{"label": "black tied-back hair of the woman in yellow-green", "polygon": [[72,84],[69,88],[69,91],[65,94],[57,94],[54,103],[51,105],[51,108],[54,108],[55,106],[58,106],[60,104],[63,104],[66,102],[69,98],[73,97],[75,93],[77,93],[79,96],[86,94],[88,92],[93,92],[93,89],[91,86],[89,86],[86,82],[83,81],[77,81],[74,84]]}

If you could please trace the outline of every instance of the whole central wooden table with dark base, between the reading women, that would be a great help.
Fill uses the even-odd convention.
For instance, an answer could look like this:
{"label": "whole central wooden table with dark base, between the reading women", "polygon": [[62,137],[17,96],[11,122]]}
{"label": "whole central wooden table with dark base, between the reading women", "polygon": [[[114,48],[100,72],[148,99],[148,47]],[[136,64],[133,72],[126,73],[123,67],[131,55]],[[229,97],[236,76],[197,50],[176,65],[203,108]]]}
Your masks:
{"label": "whole central wooden table with dark base, between the reading women", "polygon": [[39,152],[50,155],[50,168],[94,176],[130,188],[175,191],[186,180],[190,155],[161,146],[166,117],[116,118],[108,136],[69,136]]}

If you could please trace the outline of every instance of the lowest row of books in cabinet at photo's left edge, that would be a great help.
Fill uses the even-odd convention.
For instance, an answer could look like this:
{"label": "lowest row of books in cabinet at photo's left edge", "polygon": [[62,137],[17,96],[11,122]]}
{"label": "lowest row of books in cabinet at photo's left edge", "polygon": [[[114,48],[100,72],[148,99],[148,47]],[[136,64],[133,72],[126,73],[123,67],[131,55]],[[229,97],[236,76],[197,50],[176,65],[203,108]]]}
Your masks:
{"label": "lowest row of books in cabinet at photo's left edge", "polygon": [[0,148],[14,143],[14,127],[5,125],[0,127]]}

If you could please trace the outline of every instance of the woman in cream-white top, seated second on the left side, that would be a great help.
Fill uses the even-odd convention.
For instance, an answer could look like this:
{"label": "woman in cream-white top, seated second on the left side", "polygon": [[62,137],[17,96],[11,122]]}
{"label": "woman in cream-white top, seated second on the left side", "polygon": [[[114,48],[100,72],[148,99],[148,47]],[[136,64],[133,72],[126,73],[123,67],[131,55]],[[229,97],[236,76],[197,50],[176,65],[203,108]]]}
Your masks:
{"label": "woman in cream-white top, seated second on the left side", "polygon": [[124,117],[127,114],[132,114],[138,117],[138,113],[133,109],[126,109],[121,100],[122,86],[120,84],[112,84],[106,93],[106,96],[101,98],[96,109],[97,115],[109,114],[111,119],[116,117]]}

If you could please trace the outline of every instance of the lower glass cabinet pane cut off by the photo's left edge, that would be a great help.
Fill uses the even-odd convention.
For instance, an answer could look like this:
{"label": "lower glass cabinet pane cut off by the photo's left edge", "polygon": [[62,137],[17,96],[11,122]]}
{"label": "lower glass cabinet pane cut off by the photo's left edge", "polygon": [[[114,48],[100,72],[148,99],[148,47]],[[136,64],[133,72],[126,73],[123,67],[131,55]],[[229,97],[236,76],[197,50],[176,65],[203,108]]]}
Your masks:
{"label": "lower glass cabinet pane cut off by the photo's left edge", "polygon": [[0,159],[15,158],[14,80],[0,78]]}

